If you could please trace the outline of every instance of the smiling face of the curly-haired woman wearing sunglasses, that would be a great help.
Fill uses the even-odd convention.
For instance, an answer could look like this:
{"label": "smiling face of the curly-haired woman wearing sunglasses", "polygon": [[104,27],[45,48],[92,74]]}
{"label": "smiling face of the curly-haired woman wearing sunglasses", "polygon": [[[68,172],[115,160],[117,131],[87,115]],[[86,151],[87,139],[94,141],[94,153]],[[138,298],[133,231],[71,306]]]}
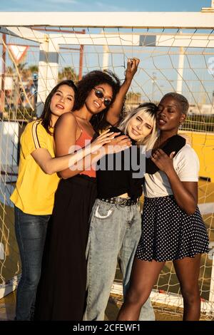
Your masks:
{"label": "smiling face of the curly-haired woman wearing sunglasses", "polygon": [[[103,93],[102,98],[98,98],[98,96],[96,96],[96,90],[101,91]],[[85,103],[86,108],[92,114],[100,113],[103,109],[106,109],[104,100],[105,99],[112,100],[112,96],[113,96],[112,88],[107,83],[94,86],[94,88],[91,90],[91,93],[88,94],[88,97],[86,99]]]}

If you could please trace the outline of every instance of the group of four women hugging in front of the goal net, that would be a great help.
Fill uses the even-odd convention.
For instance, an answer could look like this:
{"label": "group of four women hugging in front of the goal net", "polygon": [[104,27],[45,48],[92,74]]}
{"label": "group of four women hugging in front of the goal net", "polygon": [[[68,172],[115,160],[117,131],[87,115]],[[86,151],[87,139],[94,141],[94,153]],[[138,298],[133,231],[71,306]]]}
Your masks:
{"label": "group of four women hugging in front of the goal net", "polygon": [[198,158],[178,135],[188,101],[168,93],[124,118],[138,63],[128,59],[122,85],[108,71],[58,83],[21,136],[11,195],[22,265],[16,320],[103,320],[117,262],[125,298],[118,320],[153,320],[149,295],[168,260],[183,319],[199,319],[208,235]]}

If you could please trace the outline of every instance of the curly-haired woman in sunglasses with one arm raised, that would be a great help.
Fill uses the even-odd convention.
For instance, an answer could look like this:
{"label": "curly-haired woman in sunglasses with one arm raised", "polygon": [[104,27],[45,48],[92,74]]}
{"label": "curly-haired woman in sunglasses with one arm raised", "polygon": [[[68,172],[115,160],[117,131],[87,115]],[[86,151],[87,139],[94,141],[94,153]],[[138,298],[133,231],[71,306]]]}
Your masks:
{"label": "curly-haired woman in sunglasses with one arm raised", "polygon": [[[106,122],[119,118],[123,98],[138,63],[128,61],[126,81],[120,85],[110,72],[91,71],[78,83],[73,113],[65,113],[56,125],[56,156],[85,147],[95,134],[91,118],[105,112]],[[114,104],[114,105],[113,105]],[[117,134],[118,135],[118,134]],[[131,145],[128,136],[111,140],[117,150]],[[103,145],[108,150],[108,145]],[[104,154],[106,151],[104,151]],[[89,156],[89,155],[88,155]],[[89,216],[96,200],[98,153],[83,158],[82,165],[60,172],[54,212],[44,253],[44,266],[36,302],[36,319],[81,320],[86,301],[86,243]]]}

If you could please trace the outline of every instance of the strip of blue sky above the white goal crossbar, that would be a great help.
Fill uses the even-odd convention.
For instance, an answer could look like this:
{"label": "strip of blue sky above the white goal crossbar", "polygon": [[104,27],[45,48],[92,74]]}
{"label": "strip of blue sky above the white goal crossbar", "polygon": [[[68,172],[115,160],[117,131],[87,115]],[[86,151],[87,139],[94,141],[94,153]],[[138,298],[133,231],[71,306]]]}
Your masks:
{"label": "strip of blue sky above the white goal crossbar", "polygon": [[200,11],[211,0],[1,0],[0,11]]}

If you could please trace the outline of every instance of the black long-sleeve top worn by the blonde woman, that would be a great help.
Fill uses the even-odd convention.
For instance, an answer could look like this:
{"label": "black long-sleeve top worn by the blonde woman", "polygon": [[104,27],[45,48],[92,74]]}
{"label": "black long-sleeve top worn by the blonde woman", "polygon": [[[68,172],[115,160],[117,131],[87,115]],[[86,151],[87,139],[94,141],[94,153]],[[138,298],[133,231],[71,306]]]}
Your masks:
{"label": "black long-sleeve top worn by the blonde woman", "polygon": [[[121,132],[115,127],[111,127],[110,131]],[[123,133],[121,132],[120,135],[123,135]],[[98,161],[96,171],[98,198],[117,197],[127,192],[132,200],[137,200],[142,194],[143,175],[141,173],[138,177],[133,177],[133,173],[137,173],[140,170],[133,165],[137,163],[142,168],[142,162],[144,162],[144,173],[154,174],[159,170],[151,158],[145,158],[145,153],[141,153],[141,149],[137,148],[136,142],[134,140],[131,141],[133,144],[131,148],[121,153],[105,155]],[[184,145],[185,138],[180,135],[174,135],[168,139],[162,149],[167,155],[170,155],[173,151],[175,151],[176,155]],[[121,165],[118,169],[116,169],[116,163]]]}

